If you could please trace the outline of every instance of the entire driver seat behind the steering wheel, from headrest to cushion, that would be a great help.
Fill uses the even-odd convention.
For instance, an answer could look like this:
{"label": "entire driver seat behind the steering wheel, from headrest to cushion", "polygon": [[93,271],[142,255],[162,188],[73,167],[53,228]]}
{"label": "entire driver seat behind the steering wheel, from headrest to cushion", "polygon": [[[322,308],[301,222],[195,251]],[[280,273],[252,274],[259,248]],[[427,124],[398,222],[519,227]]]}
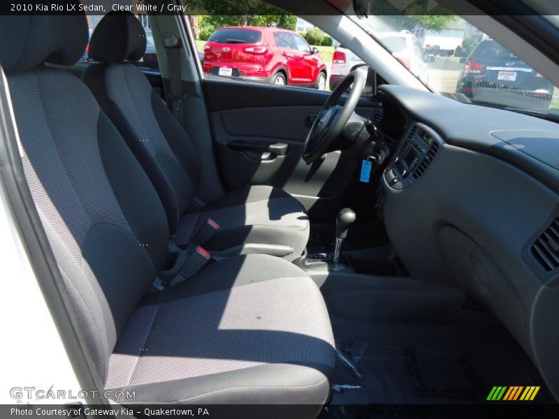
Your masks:
{"label": "entire driver seat behind the steering wheel, from headrest to cushion", "polygon": [[242,253],[287,260],[300,256],[309,238],[308,217],[303,205],[282,189],[247,186],[209,204],[196,198],[204,164],[196,146],[145,75],[126,62],[141,59],[145,47],[145,31],[136,17],[108,13],[89,43],[89,57],[100,64],[89,66],[82,80],[157,189],[173,242],[186,247],[212,219],[220,228],[203,243],[209,251],[235,254],[245,247]]}

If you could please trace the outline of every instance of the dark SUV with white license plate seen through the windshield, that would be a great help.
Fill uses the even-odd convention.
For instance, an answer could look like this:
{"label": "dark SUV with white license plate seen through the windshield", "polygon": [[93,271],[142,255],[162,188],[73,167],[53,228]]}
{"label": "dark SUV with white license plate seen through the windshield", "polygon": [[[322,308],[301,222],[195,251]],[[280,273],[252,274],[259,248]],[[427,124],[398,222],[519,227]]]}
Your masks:
{"label": "dark SUV with white license plate seen through the windshield", "polygon": [[481,41],[462,62],[456,92],[472,101],[549,110],[553,84],[493,39]]}

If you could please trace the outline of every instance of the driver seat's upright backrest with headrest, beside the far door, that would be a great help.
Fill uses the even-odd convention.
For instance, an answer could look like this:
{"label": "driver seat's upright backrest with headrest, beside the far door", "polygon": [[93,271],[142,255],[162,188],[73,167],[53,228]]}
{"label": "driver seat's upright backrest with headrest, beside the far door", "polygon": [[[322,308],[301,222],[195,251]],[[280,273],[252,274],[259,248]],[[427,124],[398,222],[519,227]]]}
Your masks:
{"label": "driver seat's upright backrest with headrest, beside the far door", "polygon": [[82,80],[124,136],[164,203],[171,233],[191,206],[200,181],[198,152],[145,75],[133,64],[145,52],[145,31],[131,13],[108,13],[89,41]]}

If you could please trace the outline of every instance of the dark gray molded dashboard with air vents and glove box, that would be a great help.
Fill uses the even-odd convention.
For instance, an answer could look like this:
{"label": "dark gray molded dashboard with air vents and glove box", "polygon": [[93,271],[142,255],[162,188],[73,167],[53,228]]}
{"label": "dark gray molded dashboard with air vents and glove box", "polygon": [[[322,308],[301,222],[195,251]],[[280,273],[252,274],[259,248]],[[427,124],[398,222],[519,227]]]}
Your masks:
{"label": "dark gray molded dashboard with air vents and glove box", "polygon": [[559,125],[407,87],[379,98],[398,256],[493,310],[559,399]]}

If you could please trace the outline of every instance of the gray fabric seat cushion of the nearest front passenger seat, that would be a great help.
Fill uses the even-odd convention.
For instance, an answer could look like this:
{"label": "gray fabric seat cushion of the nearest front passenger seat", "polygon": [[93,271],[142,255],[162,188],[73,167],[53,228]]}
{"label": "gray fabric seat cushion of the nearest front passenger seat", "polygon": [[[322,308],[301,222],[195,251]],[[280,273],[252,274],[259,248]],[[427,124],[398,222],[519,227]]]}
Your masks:
{"label": "gray fabric seat cushion of the nearest front passenger seat", "polygon": [[318,405],[334,363],[312,279],[286,260],[246,255],[148,295],[111,355],[106,388],[136,390],[130,402]]}

